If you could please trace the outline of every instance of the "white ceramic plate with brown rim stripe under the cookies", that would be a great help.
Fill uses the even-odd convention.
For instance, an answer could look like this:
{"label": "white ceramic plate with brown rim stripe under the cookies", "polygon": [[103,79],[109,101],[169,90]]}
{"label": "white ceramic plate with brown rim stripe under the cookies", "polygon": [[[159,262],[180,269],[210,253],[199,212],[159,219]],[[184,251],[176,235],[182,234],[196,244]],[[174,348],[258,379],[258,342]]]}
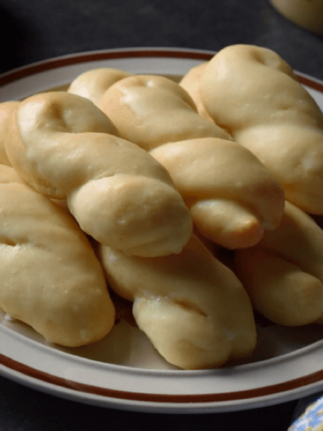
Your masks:
{"label": "white ceramic plate with brown rim stripe under the cookies", "polygon": [[[96,67],[184,75],[209,51],[130,48],[54,58],[0,76],[0,101],[22,99],[70,83]],[[298,74],[323,108],[323,83]],[[206,413],[252,409],[323,390],[323,329],[258,322],[258,347],[244,364],[182,371],[168,365],[127,319],[126,304],[109,336],[91,347],[48,345],[29,327],[0,313],[0,374],[39,391],[98,406],[147,412]]]}

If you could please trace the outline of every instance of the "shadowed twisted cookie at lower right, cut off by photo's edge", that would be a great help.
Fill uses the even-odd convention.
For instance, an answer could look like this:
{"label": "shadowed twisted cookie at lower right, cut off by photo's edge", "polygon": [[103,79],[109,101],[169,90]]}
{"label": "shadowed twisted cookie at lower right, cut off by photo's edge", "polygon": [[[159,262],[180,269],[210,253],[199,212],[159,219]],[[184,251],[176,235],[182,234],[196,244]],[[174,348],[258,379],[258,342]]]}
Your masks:
{"label": "shadowed twisted cookie at lower right, cut off by photo's edge", "polygon": [[279,227],[236,251],[235,267],[258,312],[287,326],[323,323],[323,231],[286,202]]}

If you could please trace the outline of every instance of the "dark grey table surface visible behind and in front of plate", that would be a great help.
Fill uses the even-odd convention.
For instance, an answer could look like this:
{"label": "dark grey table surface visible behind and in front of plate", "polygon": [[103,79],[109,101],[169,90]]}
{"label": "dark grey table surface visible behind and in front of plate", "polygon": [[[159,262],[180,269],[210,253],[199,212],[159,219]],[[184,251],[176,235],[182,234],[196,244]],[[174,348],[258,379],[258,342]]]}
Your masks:
{"label": "dark grey table surface visible behind and in front of plate", "polygon": [[[286,21],[267,0],[0,0],[0,40],[0,73],[93,49],[219,50],[248,43],[275,49],[294,69],[323,80],[323,38]],[[78,404],[3,377],[0,388],[1,431],[97,427],[285,431],[296,404],[207,415],[157,415]]]}

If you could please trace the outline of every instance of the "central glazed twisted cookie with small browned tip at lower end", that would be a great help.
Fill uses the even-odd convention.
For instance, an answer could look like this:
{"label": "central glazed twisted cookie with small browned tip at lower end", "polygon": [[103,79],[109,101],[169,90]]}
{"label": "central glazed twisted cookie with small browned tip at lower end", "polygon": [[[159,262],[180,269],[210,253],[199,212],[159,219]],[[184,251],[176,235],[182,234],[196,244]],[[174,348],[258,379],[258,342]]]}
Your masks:
{"label": "central glazed twisted cookie with small browned tip at lower end", "polygon": [[[159,76],[132,76],[113,84],[100,108],[121,136],[132,136],[164,164],[190,206],[197,229],[212,241],[233,249],[249,247],[259,241],[264,228],[278,223],[283,189],[247,149],[231,145],[226,132],[199,117],[179,84]],[[262,207],[266,198],[270,205]]]}

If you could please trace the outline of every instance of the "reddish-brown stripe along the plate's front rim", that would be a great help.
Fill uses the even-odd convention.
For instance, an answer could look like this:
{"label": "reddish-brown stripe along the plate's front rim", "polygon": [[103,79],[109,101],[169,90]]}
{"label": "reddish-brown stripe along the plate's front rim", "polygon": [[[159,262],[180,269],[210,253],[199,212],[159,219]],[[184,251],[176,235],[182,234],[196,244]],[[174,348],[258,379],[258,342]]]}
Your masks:
{"label": "reddish-brown stripe along the plate's front rim", "polygon": [[100,388],[84,383],[77,383],[71,380],[57,377],[53,374],[44,373],[31,366],[24,365],[7,356],[0,354],[0,364],[12,369],[18,373],[28,375],[38,381],[54,384],[73,391],[83,393],[92,393],[101,397],[109,397],[122,400],[135,401],[150,401],[157,403],[207,403],[207,402],[223,402],[232,400],[248,400],[251,398],[265,397],[267,395],[277,394],[285,391],[307,386],[311,383],[318,383],[323,380],[323,370],[313,374],[308,374],[303,377],[290,380],[284,383],[277,383],[268,386],[263,386],[257,389],[249,389],[246,391],[222,392],[222,393],[205,393],[205,394],[157,394],[144,392],[129,392],[117,391],[109,388]]}

